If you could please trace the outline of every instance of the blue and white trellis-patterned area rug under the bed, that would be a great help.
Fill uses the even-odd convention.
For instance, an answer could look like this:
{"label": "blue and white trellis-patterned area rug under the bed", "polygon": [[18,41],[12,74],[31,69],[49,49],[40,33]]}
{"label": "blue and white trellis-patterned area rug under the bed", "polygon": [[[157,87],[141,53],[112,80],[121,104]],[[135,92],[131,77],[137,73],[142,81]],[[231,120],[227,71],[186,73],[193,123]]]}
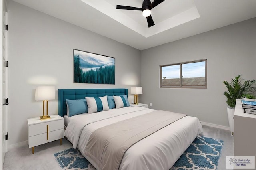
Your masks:
{"label": "blue and white trellis-patterned area rug under the bed", "polygon": [[[216,170],[222,140],[198,136],[171,170]],[[96,170],[82,154],[70,148],[54,154],[63,170]]]}

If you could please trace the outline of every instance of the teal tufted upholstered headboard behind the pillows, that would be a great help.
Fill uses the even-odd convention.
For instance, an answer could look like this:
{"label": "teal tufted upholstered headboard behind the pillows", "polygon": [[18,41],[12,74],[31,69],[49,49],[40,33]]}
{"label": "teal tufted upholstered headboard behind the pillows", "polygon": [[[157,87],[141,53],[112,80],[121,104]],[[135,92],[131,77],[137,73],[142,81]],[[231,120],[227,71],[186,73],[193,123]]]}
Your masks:
{"label": "teal tufted upholstered headboard behind the pillows", "polygon": [[58,115],[67,115],[66,99],[84,99],[84,97],[127,95],[128,89],[58,89]]}

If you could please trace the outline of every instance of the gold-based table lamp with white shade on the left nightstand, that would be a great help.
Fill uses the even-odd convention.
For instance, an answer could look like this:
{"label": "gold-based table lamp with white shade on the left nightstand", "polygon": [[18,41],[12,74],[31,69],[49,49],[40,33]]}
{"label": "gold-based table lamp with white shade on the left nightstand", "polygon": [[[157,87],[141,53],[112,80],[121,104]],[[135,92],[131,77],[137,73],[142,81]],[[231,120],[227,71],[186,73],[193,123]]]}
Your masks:
{"label": "gold-based table lamp with white shade on the left nightstand", "polygon": [[[36,87],[36,95],[35,100],[42,100],[43,101],[43,115],[40,116],[41,120],[50,119],[51,117],[48,115],[48,100],[55,99],[55,87],[54,86],[39,86]],[[44,113],[46,102],[46,115]]]}

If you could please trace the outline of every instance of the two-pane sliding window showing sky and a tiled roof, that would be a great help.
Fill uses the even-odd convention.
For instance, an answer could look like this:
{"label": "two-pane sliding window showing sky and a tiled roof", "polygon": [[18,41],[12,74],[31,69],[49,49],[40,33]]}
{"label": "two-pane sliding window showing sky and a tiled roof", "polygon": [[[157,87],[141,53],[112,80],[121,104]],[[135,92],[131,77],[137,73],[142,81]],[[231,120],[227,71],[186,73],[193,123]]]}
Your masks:
{"label": "two-pane sliding window showing sky and a tiled roof", "polygon": [[206,89],[207,59],[161,65],[160,87]]}

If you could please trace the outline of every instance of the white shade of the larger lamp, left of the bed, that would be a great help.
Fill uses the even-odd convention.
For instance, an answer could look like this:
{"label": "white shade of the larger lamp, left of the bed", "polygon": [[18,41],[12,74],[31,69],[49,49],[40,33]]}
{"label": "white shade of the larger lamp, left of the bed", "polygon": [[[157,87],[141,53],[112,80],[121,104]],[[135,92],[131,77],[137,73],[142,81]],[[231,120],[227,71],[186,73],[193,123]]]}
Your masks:
{"label": "white shade of the larger lamp, left of the bed", "polygon": [[35,100],[54,100],[55,87],[54,86],[39,86],[36,87]]}

